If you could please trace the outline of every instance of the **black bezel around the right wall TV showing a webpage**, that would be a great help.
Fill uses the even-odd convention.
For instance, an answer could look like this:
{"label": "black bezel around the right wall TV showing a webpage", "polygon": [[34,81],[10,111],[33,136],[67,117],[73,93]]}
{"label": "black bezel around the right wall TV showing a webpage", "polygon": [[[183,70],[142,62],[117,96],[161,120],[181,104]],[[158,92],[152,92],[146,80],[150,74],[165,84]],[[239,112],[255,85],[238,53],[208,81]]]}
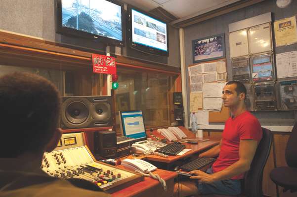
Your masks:
{"label": "black bezel around the right wall TV showing a webpage", "polygon": [[[132,30],[132,9],[166,24],[167,51],[164,51],[164,50],[161,50],[161,49],[158,49],[155,47],[147,46],[147,45],[142,45],[142,44],[135,43],[132,41],[132,31],[133,31]],[[129,42],[128,44],[129,44],[130,48],[133,48],[138,51],[142,51],[144,53],[153,54],[153,55],[169,56],[169,24],[166,23],[165,21],[163,21],[162,19],[156,17],[155,15],[149,14],[137,7],[128,5],[127,6],[127,30],[128,30],[127,35],[128,35],[128,42]]]}

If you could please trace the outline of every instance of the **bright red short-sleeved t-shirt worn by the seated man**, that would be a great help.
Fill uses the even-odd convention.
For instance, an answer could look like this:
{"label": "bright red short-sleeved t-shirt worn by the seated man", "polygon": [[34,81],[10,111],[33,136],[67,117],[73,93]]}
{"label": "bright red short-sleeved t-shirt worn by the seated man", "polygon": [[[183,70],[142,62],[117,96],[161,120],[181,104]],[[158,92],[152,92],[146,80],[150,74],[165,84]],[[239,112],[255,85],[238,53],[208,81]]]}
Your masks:
{"label": "bright red short-sleeved t-shirt worn by the seated man", "polygon": [[[234,164],[239,160],[239,141],[242,139],[253,139],[260,141],[262,128],[259,121],[249,111],[235,118],[229,118],[225,123],[222,133],[222,145],[217,160],[212,165],[213,172],[218,172]],[[231,179],[242,179],[243,174]]]}

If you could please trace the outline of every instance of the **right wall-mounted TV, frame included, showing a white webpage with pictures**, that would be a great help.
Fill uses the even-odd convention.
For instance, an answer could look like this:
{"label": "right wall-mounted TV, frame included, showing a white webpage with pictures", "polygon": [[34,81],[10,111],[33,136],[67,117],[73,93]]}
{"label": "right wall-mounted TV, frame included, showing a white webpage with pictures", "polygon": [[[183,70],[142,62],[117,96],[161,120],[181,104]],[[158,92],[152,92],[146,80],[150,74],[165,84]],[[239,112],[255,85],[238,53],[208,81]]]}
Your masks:
{"label": "right wall-mounted TV, frame included, showing a white webpage with pictures", "polygon": [[168,56],[168,24],[134,7],[128,7],[129,45],[154,55]]}

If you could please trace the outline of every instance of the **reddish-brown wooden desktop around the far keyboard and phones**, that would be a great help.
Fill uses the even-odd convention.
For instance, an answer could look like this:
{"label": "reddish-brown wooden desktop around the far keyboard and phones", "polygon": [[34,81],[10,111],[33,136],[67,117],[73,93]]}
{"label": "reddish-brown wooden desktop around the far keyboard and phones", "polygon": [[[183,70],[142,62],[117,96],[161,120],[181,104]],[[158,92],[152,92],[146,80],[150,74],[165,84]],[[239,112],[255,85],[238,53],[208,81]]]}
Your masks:
{"label": "reddish-brown wooden desktop around the far keyboard and phones", "polygon": [[[192,131],[185,129],[184,127],[179,127],[179,128],[187,135],[187,139],[198,139],[198,138],[196,138],[195,134]],[[150,133],[151,133],[150,131],[147,131],[147,136],[149,138],[152,138],[152,140],[154,140],[155,138],[152,137]],[[160,133],[158,133],[157,130],[154,130],[152,134],[159,137],[160,139],[164,138],[164,136],[161,135]],[[164,158],[164,157],[160,157],[160,156],[156,156],[156,155],[147,155],[146,159],[150,160],[150,161],[156,161],[156,162],[171,163],[176,160],[191,156],[195,153],[203,152],[204,150],[217,145],[220,141],[220,138],[204,137],[204,139],[210,139],[210,140],[204,141],[204,142],[198,141],[198,144],[184,143],[184,145],[186,145],[186,149],[192,149],[192,150],[186,152],[183,155],[169,156],[169,158]]]}

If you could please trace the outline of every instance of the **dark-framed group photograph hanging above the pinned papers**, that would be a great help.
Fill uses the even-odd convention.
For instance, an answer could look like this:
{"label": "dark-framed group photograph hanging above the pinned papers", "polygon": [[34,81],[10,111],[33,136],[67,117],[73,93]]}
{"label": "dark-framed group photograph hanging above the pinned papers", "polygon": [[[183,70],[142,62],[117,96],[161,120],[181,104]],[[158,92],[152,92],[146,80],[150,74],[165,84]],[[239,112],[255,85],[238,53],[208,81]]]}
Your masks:
{"label": "dark-framed group photograph hanging above the pinned papers", "polygon": [[193,40],[192,45],[193,63],[225,57],[224,33]]}

